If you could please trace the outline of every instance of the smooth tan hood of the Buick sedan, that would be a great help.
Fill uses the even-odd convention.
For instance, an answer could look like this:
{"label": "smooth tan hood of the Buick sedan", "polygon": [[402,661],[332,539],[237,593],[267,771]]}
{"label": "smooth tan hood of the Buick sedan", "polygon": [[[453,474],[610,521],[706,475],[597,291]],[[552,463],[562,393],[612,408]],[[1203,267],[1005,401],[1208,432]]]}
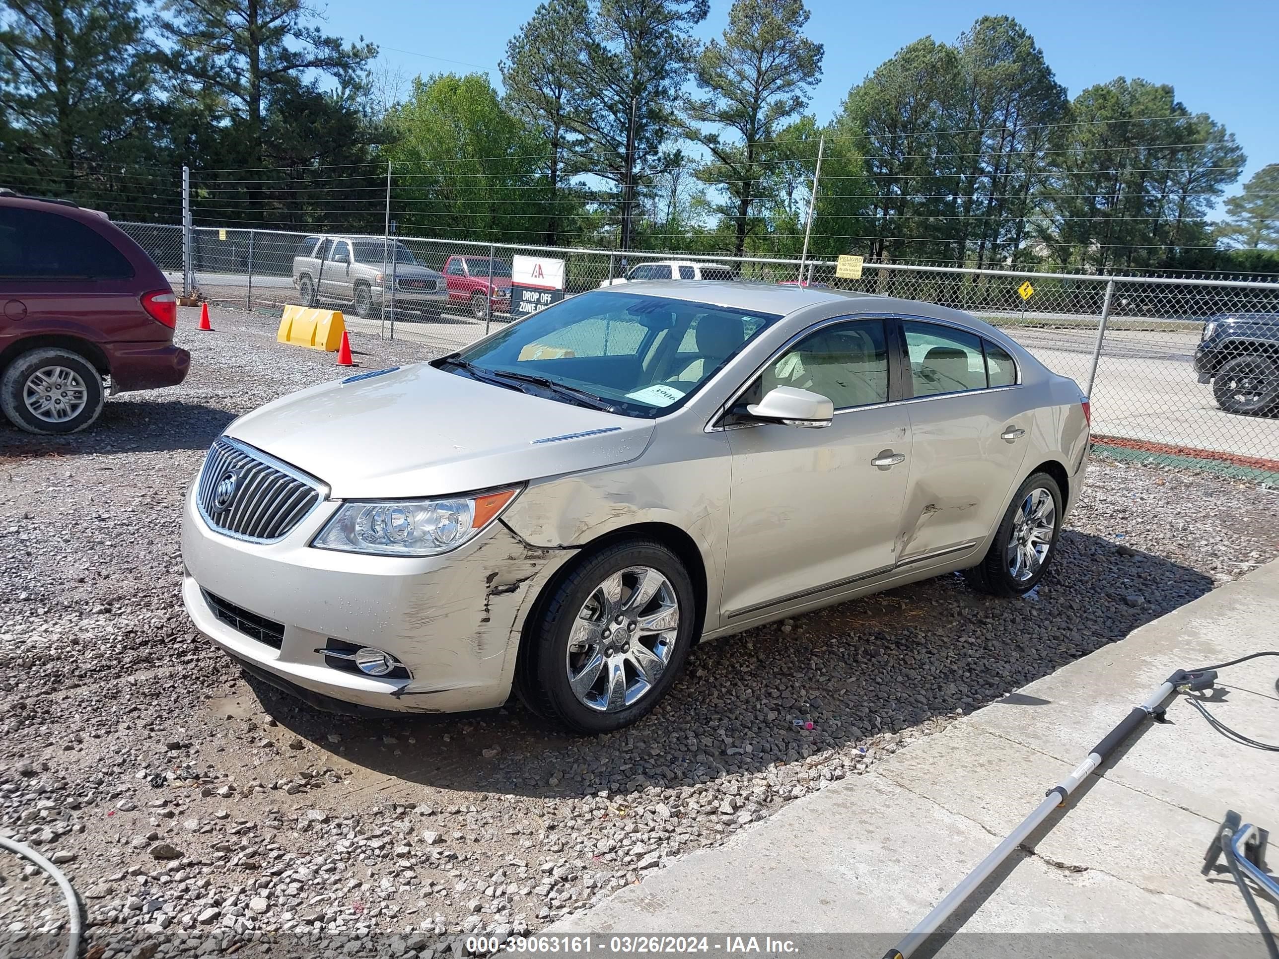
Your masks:
{"label": "smooth tan hood of the Buick sedan", "polygon": [[[426,363],[267,403],[226,430],[336,499],[443,496],[625,463],[651,419],[531,396]],[[583,435],[587,433],[587,435]]]}

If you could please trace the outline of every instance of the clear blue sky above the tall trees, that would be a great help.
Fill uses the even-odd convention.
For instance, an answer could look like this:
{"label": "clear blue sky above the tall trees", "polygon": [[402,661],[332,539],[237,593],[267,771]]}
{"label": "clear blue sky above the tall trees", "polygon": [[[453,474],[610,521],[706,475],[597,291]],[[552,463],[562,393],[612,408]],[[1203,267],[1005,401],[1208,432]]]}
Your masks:
{"label": "clear blue sky above the tall trees", "polygon": [[[698,35],[718,36],[730,5],[711,0]],[[450,0],[412,8],[363,0],[330,4],[326,13],[334,33],[352,38],[362,33],[408,75],[481,70],[500,86],[498,61],[506,40],[536,6],[536,0]],[[902,46],[925,35],[952,41],[984,14],[1009,14],[1035,36],[1072,97],[1117,75],[1141,77],[1170,83],[1189,110],[1225,124],[1248,156],[1232,192],[1267,162],[1279,162],[1275,0],[808,0],[808,35],[826,46],[822,82],[811,106],[822,121],[852,86]]]}

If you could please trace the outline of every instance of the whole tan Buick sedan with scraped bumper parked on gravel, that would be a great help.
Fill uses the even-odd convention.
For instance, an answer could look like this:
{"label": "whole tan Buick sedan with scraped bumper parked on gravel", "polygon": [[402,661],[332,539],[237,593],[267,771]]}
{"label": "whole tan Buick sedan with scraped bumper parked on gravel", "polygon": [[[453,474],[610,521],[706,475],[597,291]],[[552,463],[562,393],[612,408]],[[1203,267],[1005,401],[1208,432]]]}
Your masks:
{"label": "whole tan Buick sedan with scraped bumper parked on gravel", "polygon": [[339,710],[634,722],[689,648],[964,570],[1033,588],[1088,405],[926,303],[634,283],[231,423],[187,495],[183,596]]}

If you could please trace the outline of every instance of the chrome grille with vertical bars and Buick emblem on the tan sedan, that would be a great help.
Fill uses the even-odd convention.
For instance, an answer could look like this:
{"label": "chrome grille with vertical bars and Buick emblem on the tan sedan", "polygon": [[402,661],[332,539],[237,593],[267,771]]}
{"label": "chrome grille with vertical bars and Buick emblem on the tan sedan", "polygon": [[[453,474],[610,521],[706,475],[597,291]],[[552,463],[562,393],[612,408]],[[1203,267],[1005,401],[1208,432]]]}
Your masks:
{"label": "chrome grille with vertical bars and Buick emblem on the tan sedan", "polygon": [[219,436],[196,490],[200,513],[219,532],[255,542],[288,536],[320,501],[304,473],[252,446]]}

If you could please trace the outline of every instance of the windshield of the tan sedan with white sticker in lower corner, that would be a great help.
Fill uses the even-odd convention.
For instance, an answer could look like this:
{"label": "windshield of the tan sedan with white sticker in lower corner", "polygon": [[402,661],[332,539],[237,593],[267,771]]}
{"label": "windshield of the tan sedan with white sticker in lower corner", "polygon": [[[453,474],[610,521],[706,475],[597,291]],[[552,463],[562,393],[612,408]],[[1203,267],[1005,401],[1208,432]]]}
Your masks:
{"label": "windshield of the tan sedan with white sticker in lower corner", "polygon": [[[533,313],[455,358],[475,372],[545,377],[597,396],[619,413],[657,417],[683,405],[779,318],[686,299],[597,290]],[[572,402],[560,394],[553,398]]]}

